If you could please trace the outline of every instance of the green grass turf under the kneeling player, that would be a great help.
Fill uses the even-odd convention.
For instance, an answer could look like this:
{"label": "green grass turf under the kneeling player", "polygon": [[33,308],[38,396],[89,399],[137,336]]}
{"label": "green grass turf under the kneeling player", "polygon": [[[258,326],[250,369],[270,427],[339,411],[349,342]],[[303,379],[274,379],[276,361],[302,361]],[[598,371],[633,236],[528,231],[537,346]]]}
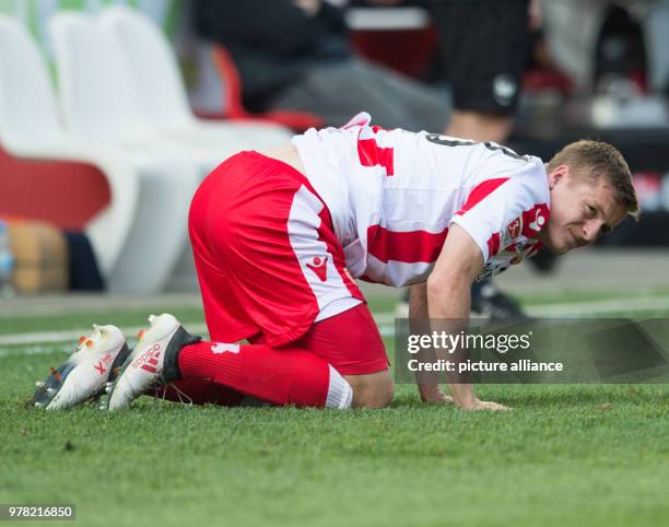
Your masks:
{"label": "green grass turf under the kneeling player", "polygon": [[[14,321],[2,329],[19,332],[25,320]],[[82,326],[54,315],[30,330]],[[0,503],[73,503],[80,525],[627,527],[669,517],[666,385],[480,387],[507,413],[424,406],[398,386],[394,406],[376,411],[143,398],[115,414],[92,403],[47,414],[24,401],[67,346],[26,348],[0,355]]]}

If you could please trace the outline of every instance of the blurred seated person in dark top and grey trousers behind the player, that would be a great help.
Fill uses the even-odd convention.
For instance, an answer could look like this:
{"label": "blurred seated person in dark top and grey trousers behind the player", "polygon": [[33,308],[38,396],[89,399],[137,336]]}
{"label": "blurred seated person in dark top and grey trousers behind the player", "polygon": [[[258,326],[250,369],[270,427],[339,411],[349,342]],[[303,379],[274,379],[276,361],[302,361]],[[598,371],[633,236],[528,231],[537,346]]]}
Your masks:
{"label": "blurred seated person in dark top and grey trousers behind the player", "polygon": [[232,56],[251,112],[308,112],[339,127],[364,108],[385,128],[443,130],[448,98],[359,57],[343,14],[322,0],[197,0],[193,19]]}

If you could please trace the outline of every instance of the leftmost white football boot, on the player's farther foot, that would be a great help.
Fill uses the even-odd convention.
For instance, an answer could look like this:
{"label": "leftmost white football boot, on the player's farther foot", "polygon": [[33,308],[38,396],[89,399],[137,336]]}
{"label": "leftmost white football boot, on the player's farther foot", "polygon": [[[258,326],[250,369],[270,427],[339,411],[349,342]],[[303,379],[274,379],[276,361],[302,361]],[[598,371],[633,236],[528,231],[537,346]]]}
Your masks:
{"label": "leftmost white football boot, on the player's farther foot", "polygon": [[74,352],[45,380],[35,383],[36,408],[63,410],[104,393],[130,354],[126,338],[116,326],[93,325],[93,333],[82,336]]}

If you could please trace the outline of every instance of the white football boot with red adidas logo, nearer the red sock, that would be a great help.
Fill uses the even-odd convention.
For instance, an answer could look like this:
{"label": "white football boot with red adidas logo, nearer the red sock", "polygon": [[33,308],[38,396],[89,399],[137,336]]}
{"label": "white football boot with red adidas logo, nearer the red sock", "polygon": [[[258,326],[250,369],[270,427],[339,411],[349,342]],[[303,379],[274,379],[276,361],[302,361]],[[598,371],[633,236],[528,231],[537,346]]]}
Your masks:
{"label": "white football boot with red adidas logo, nearer the red sock", "polygon": [[139,342],[126,359],[116,382],[107,385],[109,395],[104,405],[107,410],[127,407],[151,387],[180,378],[179,350],[200,340],[188,333],[173,315],[151,315],[149,323],[151,327],[140,331]]}

